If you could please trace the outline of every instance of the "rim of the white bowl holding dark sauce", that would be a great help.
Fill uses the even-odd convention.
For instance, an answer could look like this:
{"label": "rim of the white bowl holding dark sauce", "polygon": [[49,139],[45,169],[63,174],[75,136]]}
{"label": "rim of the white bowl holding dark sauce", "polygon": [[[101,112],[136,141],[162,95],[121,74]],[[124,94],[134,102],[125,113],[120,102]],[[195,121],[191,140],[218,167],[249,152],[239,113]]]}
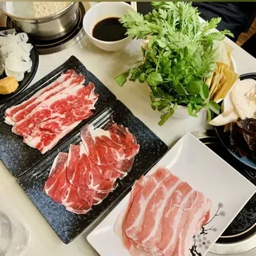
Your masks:
{"label": "rim of the white bowl holding dark sauce", "polygon": [[[97,38],[95,38],[94,36],[91,36],[89,33],[89,31],[87,30],[86,26],[85,26],[85,21],[86,21],[86,17],[88,17],[88,13],[93,12],[94,9],[96,9],[96,7],[98,7],[99,5],[104,5],[104,4],[109,4],[111,2],[98,2],[97,4],[95,4],[94,6],[90,7],[88,12],[85,13],[84,17],[83,17],[83,29],[86,33],[86,35],[89,36],[90,39],[95,40],[97,43],[100,44],[104,44],[104,45],[114,45],[117,43],[120,43],[122,41],[128,40],[131,38],[131,36],[126,36],[125,38],[121,39],[121,40],[116,40],[116,41],[104,41],[104,40],[98,40]],[[114,2],[115,4],[119,4],[125,7],[129,7],[130,10],[133,10],[134,12],[136,12],[135,8],[132,7],[130,4],[126,3],[126,2]]]}

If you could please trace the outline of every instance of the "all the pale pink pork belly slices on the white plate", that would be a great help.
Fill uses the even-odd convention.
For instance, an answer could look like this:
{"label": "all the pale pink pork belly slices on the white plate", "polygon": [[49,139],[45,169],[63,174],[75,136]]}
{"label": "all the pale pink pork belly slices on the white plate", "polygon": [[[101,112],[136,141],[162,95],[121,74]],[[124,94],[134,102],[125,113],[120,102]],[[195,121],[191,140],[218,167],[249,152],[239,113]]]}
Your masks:
{"label": "all the pale pink pork belly slices on the white plate", "polygon": [[211,201],[166,168],[135,182],[115,232],[132,256],[188,255]]}

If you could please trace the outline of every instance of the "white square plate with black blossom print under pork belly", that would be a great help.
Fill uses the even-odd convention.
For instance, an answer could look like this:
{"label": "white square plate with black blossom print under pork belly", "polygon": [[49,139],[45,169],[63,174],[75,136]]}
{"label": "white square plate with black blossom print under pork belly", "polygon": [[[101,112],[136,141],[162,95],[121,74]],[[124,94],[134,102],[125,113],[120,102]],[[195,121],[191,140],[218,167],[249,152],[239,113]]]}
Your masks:
{"label": "white square plate with black blossom print under pork belly", "polygon": [[[190,133],[184,135],[149,173],[154,173],[158,166],[166,166],[178,178],[211,199],[210,221],[192,238],[191,248],[197,246],[194,255],[206,255],[211,245],[256,192],[252,183]],[[88,242],[101,256],[130,255],[113,231],[117,216],[128,199],[129,195],[88,235]]]}

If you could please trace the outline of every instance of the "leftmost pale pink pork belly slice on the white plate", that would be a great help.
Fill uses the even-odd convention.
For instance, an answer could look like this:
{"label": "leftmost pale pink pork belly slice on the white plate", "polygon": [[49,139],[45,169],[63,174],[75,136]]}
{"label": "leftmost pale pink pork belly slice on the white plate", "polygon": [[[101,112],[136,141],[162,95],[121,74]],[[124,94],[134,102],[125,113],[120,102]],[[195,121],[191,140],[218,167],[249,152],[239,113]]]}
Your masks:
{"label": "leftmost pale pink pork belly slice on the white plate", "polygon": [[141,189],[135,196],[129,215],[124,222],[126,235],[130,237],[130,239],[136,240],[136,235],[140,232],[145,220],[145,211],[148,203],[150,199],[154,197],[154,193],[157,191],[159,184],[163,183],[168,175],[169,172],[166,169],[158,169],[149,177],[143,189]]}

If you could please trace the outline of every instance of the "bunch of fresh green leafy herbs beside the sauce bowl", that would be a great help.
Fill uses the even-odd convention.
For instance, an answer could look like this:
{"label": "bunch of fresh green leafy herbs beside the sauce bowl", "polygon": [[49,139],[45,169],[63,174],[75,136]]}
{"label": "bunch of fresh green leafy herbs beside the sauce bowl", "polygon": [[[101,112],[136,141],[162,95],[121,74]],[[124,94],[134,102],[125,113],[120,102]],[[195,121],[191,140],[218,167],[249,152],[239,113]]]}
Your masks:
{"label": "bunch of fresh green leafy herbs beside the sauce bowl", "polygon": [[[202,108],[218,113],[216,102],[209,102],[209,88],[204,83],[216,69],[215,40],[223,40],[230,31],[213,31],[220,18],[201,23],[191,2],[152,2],[153,11],[143,16],[128,12],[121,17],[127,35],[144,39],[143,59],[135,68],[116,77],[122,86],[131,81],[148,83],[151,107],[164,111],[159,125],[164,125],[178,105],[187,106],[191,116]],[[210,114],[209,114],[210,113]]]}

